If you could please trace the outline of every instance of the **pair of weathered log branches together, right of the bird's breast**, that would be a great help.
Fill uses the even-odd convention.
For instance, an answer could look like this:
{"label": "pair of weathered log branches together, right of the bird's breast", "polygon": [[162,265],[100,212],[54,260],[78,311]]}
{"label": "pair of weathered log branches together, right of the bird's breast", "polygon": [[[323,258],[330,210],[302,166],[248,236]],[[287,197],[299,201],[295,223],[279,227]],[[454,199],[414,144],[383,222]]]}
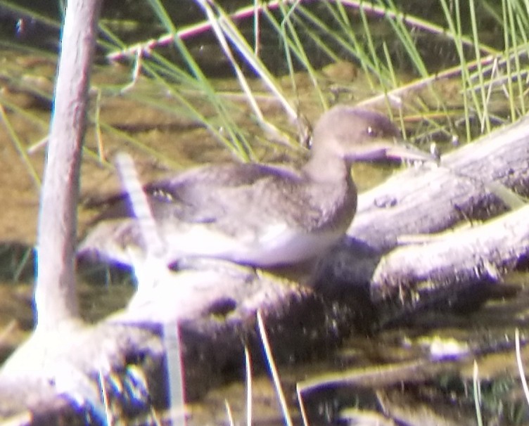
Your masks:
{"label": "pair of weathered log branches together, right of the bird's breast", "polygon": [[[329,257],[324,274],[342,283],[340,292],[347,291],[344,283],[364,283],[385,310],[388,303],[395,304],[397,316],[457,304],[464,293],[478,306],[486,294],[481,284],[496,283],[529,251],[526,207],[480,224],[508,211],[496,195],[497,183],[528,195],[528,153],[525,117],[442,157],[438,167],[409,169],[362,194],[350,237]],[[400,243],[472,219],[467,230],[442,238],[419,235],[418,244],[404,247]]]}

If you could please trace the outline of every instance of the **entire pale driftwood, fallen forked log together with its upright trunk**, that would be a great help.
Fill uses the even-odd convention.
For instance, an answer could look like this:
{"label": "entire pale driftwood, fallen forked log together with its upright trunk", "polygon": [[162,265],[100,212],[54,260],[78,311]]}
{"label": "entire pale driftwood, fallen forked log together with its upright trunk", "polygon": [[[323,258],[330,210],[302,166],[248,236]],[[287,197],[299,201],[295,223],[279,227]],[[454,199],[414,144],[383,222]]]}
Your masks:
{"label": "entire pale driftwood, fallen forked log together with its upright trunk", "polygon": [[[215,385],[217,373],[241,364],[245,344],[254,354],[260,351],[258,310],[274,355],[290,360],[314,348],[332,347],[329,342],[338,342],[350,321],[371,317],[376,307],[393,303],[395,311],[402,312],[422,308],[425,304],[417,301],[429,298],[448,299],[450,304],[454,294],[497,282],[502,271],[526,257],[525,208],[483,225],[481,231],[473,228],[443,240],[425,240],[419,247],[400,247],[398,242],[402,235],[439,232],[460,221],[506,212],[495,195],[497,183],[525,194],[527,118],[447,155],[439,167],[409,170],[362,195],[352,236],[322,264],[314,288],[210,264],[167,271],[159,285],[149,295],[135,297],[129,309],[97,325],[80,323],[72,287],[75,200],[98,15],[94,6],[100,4],[68,2],[67,18],[76,5],[79,10],[77,21],[63,30],[63,72],[56,89],[52,161],[46,168],[49,190],[43,196],[39,226],[39,327],[0,370],[0,417],[11,425],[85,424],[87,417],[91,423],[105,423],[101,390],[113,413],[123,419],[168,406],[167,361],[174,360],[167,357],[164,335],[177,327],[187,396],[200,396]],[[84,32],[76,32],[77,27]],[[71,63],[63,63],[67,59]],[[76,63],[82,64],[80,70]],[[69,128],[74,134],[59,131]],[[53,164],[63,164],[65,172]],[[482,212],[485,217],[480,217]],[[60,220],[51,228],[46,220],[54,215]]]}

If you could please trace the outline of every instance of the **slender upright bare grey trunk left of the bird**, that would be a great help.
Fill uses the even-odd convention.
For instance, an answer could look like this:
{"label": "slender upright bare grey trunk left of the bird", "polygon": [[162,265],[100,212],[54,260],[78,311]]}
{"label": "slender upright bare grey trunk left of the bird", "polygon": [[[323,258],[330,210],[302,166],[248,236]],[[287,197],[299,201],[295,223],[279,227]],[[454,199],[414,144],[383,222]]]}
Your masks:
{"label": "slender upright bare grey trunk left of the bird", "polygon": [[68,1],[39,211],[37,331],[78,318],[75,236],[79,167],[101,0]]}

